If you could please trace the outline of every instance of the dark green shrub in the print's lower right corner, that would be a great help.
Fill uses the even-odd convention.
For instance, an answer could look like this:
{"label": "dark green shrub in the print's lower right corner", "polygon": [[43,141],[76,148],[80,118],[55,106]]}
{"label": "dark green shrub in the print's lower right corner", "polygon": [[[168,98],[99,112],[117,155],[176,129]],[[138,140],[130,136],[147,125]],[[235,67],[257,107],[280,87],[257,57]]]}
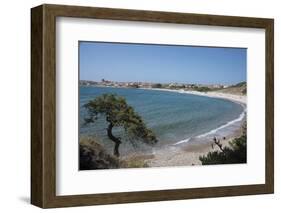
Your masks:
{"label": "dark green shrub in the print's lower right corner", "polygon": [[243,134],[229,143],[230,147],[224,147],[220,151],[209,152],[207,156],[200,156],[202,165],[235,164],[247,162],[247,134],[245,127]]}

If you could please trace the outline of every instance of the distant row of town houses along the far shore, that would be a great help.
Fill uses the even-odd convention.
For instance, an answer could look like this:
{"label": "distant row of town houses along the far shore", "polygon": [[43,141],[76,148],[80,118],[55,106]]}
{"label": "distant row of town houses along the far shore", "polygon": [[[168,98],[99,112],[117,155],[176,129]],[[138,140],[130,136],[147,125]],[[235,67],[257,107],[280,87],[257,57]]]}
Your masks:
{"label": "distant row of town houses along the far shore", "polygon": [[117,82],[102,79],[98,81],[80,80],[81,86],[104,86],[104,87],[124,87],[124,88],[165,88],[165,89],[222,89],[227,88],[227,85],[222,84],[183,84],[183,83],[150,83],[150,82]]}

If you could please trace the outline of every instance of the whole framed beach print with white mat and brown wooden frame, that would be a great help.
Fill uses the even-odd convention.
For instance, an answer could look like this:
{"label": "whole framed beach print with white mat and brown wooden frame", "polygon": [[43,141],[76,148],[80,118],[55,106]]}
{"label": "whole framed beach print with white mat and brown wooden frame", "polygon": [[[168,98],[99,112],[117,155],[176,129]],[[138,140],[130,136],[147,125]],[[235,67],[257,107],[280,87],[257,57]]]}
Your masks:
{"label": "whole framed beach print with white mat and brown wooden frame", "polygon": [[31,203],[274,191],[273,19],[31,9]]}

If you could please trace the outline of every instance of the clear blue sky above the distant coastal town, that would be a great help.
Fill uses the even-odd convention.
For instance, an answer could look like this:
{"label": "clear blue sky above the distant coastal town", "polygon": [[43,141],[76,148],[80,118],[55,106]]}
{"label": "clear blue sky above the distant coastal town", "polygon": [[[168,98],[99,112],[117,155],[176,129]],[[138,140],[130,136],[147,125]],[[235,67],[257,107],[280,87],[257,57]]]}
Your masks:
{"label": "clear blue sky above the distant coastal town", "polygon": [[79,42],[81,80],[235,84],[246,59],[245,48]]}

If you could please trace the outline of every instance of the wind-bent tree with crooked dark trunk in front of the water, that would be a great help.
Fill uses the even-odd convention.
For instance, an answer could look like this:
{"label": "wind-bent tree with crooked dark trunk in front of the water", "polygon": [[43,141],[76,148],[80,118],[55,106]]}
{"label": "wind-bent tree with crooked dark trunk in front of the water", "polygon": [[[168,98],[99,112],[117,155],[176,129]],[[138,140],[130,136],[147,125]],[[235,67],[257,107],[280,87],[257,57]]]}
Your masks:
{"label": "wind-bent tree with crooked dark trunk in front of the water", "polygon": [[105,118],[108,122],[107,136],[114,142],[113,154],[119,157],[119,146],[122,143],[120,137],[113,135],[114,127],[122,127],[130,140],[141,141],[146,144],[155,144],[157,138],[148,129],[141,117],[126,103],[126,99],[114,94],[104,94],[91,100],[84,107],[89,117],[86,123],[94,123],[99,118]]}

